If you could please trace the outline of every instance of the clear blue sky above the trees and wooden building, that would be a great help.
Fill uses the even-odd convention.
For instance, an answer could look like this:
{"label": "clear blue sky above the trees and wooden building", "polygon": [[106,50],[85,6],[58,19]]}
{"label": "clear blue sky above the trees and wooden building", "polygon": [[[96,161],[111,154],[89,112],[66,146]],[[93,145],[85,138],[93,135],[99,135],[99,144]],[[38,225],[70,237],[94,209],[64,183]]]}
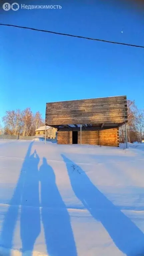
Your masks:
{"label": "clear blue sky above the trees and wooden building", "polygon": [[[115,0],[31,3],[62,9],[1,11],[0,22],[144,45],[143,13]],[[115,95],[144,108],[144,49],[0,26],[0,118],[26,107],[44,118],[46,102]]]}

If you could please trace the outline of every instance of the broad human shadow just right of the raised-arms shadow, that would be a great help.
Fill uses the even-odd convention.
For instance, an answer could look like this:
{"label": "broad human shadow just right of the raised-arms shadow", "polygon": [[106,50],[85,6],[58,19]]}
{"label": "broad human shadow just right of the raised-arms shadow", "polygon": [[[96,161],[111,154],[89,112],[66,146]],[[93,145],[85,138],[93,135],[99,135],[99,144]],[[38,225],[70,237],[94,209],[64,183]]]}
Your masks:
{"label": "broad human shadow just right of the raised-arms shadow", "polygon": [[40,167],[42,222],[47,252],[52,256],[76,256],[70,216],[58,191],[55,174],[46,158]]}

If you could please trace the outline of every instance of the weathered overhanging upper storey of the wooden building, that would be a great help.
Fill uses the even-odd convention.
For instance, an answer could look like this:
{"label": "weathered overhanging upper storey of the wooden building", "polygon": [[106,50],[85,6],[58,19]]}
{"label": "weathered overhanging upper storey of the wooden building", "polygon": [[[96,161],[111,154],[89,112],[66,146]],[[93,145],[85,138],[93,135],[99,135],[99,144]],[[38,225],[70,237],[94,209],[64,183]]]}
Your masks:
{"label": "weathered overhanging upper storey of the wooden building", "polygon": [[123,123],[127,121],[126,96],[62,101],[46,104],[46,125]]}

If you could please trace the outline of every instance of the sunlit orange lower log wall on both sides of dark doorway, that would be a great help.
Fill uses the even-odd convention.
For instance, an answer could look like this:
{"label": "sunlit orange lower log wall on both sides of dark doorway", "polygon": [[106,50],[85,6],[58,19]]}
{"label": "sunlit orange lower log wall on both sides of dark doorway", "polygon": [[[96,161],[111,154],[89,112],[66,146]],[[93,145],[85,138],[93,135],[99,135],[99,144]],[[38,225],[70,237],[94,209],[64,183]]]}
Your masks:
{"label": "sunlit orange lower log wall on both sides of dark doorway", "polygon": [[[71,144],[72,131],[59,131],[58,144]],[[80,144],[80,132],[78,131],[78,144]],[[112,128],[101,131],[82,131],[82,144],[119,147],[119,129]]]}

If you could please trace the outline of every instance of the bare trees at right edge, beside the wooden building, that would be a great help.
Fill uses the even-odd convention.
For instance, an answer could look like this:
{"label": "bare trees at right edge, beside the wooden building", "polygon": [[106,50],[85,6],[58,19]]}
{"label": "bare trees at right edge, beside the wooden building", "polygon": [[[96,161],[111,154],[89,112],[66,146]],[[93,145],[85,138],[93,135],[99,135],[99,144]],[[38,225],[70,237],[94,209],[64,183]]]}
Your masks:
{"label": "bare trees at right edge, beside the wooden building", "polygon": [[[127,137],[128,142],[138,141],[141,143],[144,140],[144,109],[139,109],[135,101],[127,100],[128,107],[128,123]],[[125,142],[125,125],[119,128],[120,142]]]}

